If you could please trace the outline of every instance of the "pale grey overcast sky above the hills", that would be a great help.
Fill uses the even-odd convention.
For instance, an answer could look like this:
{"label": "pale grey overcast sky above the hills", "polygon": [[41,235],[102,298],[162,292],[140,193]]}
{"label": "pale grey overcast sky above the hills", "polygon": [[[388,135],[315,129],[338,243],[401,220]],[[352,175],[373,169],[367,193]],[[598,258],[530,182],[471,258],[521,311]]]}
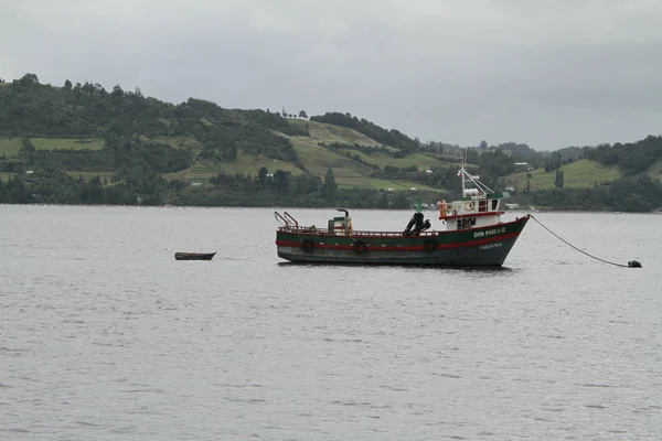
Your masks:
{"label": "pale grey overcast sky above the hills", "polygon": [[23,0],[0,77],[536,150],[662,132],[660,0]]}

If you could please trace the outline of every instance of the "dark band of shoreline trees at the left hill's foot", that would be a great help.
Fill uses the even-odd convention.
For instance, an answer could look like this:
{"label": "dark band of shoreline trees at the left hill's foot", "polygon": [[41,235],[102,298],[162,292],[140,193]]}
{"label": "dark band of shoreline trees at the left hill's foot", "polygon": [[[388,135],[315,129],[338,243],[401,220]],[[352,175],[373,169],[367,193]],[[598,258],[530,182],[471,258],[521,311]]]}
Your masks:
{"label": "dark band of shoreline trees at the left hill's foot", "polygon": [[416,197],[434,200],[438,194],[338,189],[333,172],[324,180],[310,174],[292,175],[266,168],[256,176],[220,173],[205,185],[163,180],[154,173],[111,178],[70,176],[57,170],[38,171],[0,180],[4,204],[121,204],[190,206],[300,206],[408,209]]}

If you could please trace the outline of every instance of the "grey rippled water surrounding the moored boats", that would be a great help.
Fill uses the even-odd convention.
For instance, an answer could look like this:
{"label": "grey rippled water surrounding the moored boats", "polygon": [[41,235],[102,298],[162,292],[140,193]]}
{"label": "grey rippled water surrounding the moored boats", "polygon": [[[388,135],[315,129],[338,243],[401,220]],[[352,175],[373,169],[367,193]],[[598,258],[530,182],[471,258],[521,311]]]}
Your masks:
{"label": "grey rippled water surrounding the moored boats", "polygon": [[659,217],[540,214],[638,271],[535,225],[480,271],[280,265],[269,209],[0,216],[0,438],[662,439]]}

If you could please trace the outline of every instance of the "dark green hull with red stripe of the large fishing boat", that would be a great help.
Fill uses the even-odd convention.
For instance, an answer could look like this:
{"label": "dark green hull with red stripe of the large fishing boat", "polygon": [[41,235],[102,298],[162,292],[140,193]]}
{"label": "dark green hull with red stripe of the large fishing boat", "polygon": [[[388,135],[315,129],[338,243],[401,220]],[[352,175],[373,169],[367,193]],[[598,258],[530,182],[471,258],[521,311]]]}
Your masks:
{"label": "dark green hull with red stripe of the large fishing boat", "polygon": [[297,263],[501,267],[527,220],[528,215],[511,223],[418,237],[279,230],[276,245],[278,257]]}

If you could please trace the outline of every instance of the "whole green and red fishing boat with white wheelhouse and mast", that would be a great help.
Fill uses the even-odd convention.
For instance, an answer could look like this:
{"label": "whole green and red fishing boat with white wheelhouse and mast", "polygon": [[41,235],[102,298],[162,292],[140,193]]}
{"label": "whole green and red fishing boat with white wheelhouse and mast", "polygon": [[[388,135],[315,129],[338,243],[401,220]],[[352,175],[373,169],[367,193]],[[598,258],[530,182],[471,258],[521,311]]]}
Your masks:
{"label": "whole green and red fishing boat with white wheelhouse and mast", "polygon": [[461,196],[439,201],[438,229],[420,206],[402,232],[354,229],[343,208],[328,228],[301,226],[289,213],[275,212],[278,257],[299,263],[501,267],[531,216],[502,222],[510,194],[492,191],[463,163],[458,176]]}

